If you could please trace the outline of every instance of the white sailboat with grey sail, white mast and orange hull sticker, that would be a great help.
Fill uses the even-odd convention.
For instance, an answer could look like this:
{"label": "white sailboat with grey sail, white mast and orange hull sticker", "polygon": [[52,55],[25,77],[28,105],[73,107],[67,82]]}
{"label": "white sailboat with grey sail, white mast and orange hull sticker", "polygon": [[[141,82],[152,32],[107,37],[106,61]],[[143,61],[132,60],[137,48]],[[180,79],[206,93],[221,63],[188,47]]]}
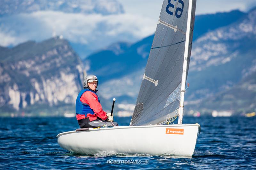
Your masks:
{"label": "white sailboat with grey sail, white mast and orange hull sticker", "polygon": [[182,118],[195,9],[196,0],[164,0],[130,126],[60,133],[62,148],[87,155],[192,156],[200,125],[182,124]]}

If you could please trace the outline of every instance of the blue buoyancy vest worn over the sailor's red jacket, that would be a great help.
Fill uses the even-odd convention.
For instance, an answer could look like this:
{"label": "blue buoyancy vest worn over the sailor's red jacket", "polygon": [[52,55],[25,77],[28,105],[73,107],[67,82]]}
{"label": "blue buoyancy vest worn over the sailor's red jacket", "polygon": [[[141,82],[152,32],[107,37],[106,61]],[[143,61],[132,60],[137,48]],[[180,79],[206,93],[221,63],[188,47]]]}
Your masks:
{"label": "blue buoyancy vest worn over the sailor's red jacket", "polygon": [[[76,115],[80,114],[80,115],[85,115],[87,116],[87,114],[94,114],[93,110],[90,108],[90,106],[86,103],[82,103],[80,101],[81,96],[84,94],[84,92],[86,91],[90,91],[93,92],[92,90],[89,89],[84,89],[81,90],[76,98]],[[94,94],[96,94],[95,92],[93,92]],[[98,97],[98,101],[100,102],[99,96],[96,94],[96,96]]]}

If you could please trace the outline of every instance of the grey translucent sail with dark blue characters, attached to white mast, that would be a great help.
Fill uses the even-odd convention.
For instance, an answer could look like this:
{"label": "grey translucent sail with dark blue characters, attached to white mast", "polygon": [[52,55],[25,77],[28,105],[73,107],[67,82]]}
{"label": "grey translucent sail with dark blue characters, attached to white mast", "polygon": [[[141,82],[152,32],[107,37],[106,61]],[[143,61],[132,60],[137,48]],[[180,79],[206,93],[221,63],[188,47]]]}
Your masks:
{"label": "grey translucent sail with dark blue characters, attached to white mast", "polygon": [[190,58],[185,48],[191,51],[195,7],[196,0],[164,0],[131,126],[160,124],[179,115],[187,77],[183,72],[188,72]]}

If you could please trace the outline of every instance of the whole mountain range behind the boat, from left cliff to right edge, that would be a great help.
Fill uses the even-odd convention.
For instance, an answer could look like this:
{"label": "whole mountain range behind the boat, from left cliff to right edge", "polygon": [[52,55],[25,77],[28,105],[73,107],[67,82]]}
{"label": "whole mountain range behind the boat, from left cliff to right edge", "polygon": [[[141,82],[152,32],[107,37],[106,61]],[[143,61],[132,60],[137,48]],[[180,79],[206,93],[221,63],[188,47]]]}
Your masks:
{"label": "whole mountain range behind the boat, from left cliff to right edge", "polygon": [[[200,22],[211,27],[202,28],[201,32],[195,29],[198,37],[193,41],[188,72],[186,113],[191,110],[202,114],[211,114],[213,110],[234,114],[255,111],[256,9],[240,14],[243,16],[236,16],[232,22],[223,21],[214,26],[209,24],[214,21],[214,15],[210,15],[212,19],[201,18]],[[129,115],[136,102],[152,41],[153,35],[133,44],[116,42],[83,61],[62,36],[42,42],[27,41],[13,48],[0,46],[0,113],[74,113],[85,68],[88,74],[99,78],[97,94],[103,109],[110,111],[111,98],[115,97],[114,112]]]}

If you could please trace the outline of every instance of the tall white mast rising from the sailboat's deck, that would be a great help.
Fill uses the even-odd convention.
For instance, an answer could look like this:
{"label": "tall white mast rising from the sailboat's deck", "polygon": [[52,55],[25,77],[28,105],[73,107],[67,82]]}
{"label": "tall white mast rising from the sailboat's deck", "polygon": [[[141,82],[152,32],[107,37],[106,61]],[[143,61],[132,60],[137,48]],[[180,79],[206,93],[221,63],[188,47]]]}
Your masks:
{"label": "tall white mast rising from the sailboat's deck", "polygon": [[179,120],[178,124],[182,124],[183,119],[183,108],[184,108],[184,94],[187,78],[187,65],[188,65],[188,51],[189,51],[189,37],[190,37],[190,24],[191,24],[191,13],[192,13],[192,4],[193,0],[189,0],[188,3],[188,21],[187,21],[187,31],[186,31],[186,41],[185,41],[185,52],[184,52],[184,62],[183,62],[183,71],[182,71],[182,80],[181,80],[181,92],[180,92],[180,111],[179,111]]}

